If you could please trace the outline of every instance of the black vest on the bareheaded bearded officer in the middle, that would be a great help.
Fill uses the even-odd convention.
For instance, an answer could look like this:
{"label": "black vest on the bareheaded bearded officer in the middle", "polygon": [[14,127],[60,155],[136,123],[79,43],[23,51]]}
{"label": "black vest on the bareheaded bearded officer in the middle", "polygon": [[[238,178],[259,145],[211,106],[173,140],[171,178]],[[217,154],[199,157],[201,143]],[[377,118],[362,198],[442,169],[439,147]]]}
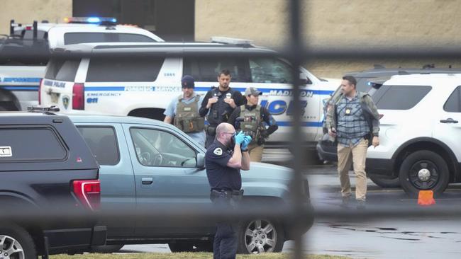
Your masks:
{"label": "black vest on the bareheaded bearded officer in the middle", "polygon": [[216,96],[218,98],[218,101],[211,105],[209,115],[206,116],[206,120],[208,120],[210,126],[216,127],[221,122],[227,122],[229,120],[229,117],[233,112],[233,108],[230,107],[228,103],[224,102],[224,99],[227,96],[233,98],[234,93],[235,91],[232,88],[230,88],[230,91],[228,91],[227,93],[221,93],[218,87],[213,88],[213,90],[211,90],[210,98]]}

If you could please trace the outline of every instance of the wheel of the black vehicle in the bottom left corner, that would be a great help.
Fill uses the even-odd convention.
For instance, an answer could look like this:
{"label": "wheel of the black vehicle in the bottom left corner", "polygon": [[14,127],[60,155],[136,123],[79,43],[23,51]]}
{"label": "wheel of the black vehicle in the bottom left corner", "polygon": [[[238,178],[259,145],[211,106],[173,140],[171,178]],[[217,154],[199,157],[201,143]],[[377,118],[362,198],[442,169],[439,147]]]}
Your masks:
{"label": "wheel of the black vehicle in the bottom left corner", "polygon": [[1,258],[36,259],[37,251],[27,231],[14,224],[0,226]]}

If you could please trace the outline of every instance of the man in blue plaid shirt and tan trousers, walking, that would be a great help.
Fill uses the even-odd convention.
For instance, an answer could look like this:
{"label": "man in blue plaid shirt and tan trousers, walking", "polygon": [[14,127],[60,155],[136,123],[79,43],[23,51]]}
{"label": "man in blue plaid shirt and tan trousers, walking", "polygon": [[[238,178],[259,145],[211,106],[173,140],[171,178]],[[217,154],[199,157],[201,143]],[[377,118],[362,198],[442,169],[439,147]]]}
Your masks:
{"label": "man in blue plaid shirt and tan trousers, walking", "polygon": [[379,145],[379,114],[372,98],[367,93],[358,92],[356,84],[353,76],[343,77],[343,93],[332,100],[326,126],[331,139],[338,141],[338,173],[343,205],[348,205],[352,195],[348,173],[353,164],[357,176],[355,199],[357,207],[364,208],[367,195],[365,159],[368,147]]}

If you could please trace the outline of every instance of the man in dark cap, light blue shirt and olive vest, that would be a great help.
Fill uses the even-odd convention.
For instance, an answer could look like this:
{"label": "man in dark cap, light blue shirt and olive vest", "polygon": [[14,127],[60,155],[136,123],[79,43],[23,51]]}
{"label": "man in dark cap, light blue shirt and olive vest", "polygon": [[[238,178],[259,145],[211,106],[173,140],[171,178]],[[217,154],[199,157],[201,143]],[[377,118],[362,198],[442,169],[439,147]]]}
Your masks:
{"label": "man in dark cap, light blue shirt and olive vest", "polygon": [[165,110],[164,122],[172,123],[189,137],[205,146],[205,120],[199,115],[199,103],[203,100],[194,92],[194,77],[183,76],[181,80],[182,94],[174,98]]}

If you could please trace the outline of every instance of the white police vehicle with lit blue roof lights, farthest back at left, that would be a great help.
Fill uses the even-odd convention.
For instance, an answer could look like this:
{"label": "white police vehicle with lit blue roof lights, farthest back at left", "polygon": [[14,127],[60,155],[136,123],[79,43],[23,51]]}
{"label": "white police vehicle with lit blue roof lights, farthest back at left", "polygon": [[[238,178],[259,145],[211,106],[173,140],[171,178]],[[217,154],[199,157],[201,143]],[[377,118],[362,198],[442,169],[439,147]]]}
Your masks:
{"label": "white police vehicle with lit blue roof lights, farthest back at left", "polygon": [[162,42],[157,35],[115,18],[73,17],[66,23],[21,24],[10,21],[0,40],[0,110],[26,110],[38,104],[38,85],[50,48],[83,42]]}

